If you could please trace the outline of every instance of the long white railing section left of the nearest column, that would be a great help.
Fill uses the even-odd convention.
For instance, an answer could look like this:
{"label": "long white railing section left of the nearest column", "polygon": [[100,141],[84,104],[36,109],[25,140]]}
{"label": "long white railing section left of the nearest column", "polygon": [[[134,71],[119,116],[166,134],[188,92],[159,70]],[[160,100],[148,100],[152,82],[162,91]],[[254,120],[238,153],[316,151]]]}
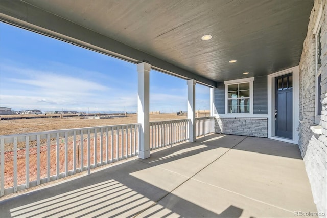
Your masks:
{"label": "long white railing section left of the nearest column", "polygon": [[126,124],[0,136],[0,196],[138,155],[138,128]]}

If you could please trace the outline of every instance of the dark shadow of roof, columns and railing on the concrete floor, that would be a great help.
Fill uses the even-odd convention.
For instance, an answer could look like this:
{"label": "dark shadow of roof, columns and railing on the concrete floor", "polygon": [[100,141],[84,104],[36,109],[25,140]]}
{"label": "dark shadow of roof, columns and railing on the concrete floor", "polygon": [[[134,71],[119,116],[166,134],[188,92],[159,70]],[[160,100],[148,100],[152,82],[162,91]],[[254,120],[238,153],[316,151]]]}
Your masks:
{"label": "dark shadow of roof, columns and railing on the concrete floor", "polygon": [[[170,202],[175,202],[178,206],[160,205],[150,216],[165,217],[175,214],[183,217],[239,217],[243,209],[233,205],[217,214],[171,193],[189,178],[173,176],[167,182],[176,183],[174,187],[160,188],[157,184],[146,182],[147,177],[152,175],[143,179],[134,176],[136,172],[159,164],[221,147],[301,159],[297,145],[263,138],[212,134],[195,143],[159,150],[146,160],[136,159],[113,165],[89,176],[3,200],[0,202],[0,214],[1,217],[130,217],[155,208],[154,205],[158,205],[160,200],[169,198]],[[186,149],[188,151],[183,152]],[[192,208],[192,213],[188,208]]]}

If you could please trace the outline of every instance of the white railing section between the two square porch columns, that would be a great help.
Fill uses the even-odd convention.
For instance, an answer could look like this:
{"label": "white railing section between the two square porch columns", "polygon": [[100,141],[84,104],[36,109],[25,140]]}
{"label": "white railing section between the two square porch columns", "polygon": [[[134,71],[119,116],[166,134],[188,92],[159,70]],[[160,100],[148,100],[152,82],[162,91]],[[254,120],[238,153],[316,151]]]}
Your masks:
{"label": "white railing section between the two square porch columns", "polygon": [[150,149],[189,140],[189,119],[150,122]]}

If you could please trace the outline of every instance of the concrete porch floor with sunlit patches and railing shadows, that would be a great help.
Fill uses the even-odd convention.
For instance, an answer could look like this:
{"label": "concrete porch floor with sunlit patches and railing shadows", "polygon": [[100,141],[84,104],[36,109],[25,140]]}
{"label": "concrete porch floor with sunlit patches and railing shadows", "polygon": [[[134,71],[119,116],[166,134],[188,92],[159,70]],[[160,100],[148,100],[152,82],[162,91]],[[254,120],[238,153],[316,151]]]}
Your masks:
{"label": "concrete porch floor with sunlit patches and railing shadows", "polygon": [[294,217],[295,212],[316,212],[298,146],[223,134],[0,201],[1,217]]}

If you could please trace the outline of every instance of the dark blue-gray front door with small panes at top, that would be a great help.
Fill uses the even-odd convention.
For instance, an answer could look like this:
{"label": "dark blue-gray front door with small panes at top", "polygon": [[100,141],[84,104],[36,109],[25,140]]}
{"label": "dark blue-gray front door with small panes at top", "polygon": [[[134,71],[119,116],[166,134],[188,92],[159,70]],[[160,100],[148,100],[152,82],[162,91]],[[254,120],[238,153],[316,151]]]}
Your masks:
{"label": "dark blue-gray front door with small panes at top", "polygon": [[293,76],[275,78],[275,136],[293,138]]}

